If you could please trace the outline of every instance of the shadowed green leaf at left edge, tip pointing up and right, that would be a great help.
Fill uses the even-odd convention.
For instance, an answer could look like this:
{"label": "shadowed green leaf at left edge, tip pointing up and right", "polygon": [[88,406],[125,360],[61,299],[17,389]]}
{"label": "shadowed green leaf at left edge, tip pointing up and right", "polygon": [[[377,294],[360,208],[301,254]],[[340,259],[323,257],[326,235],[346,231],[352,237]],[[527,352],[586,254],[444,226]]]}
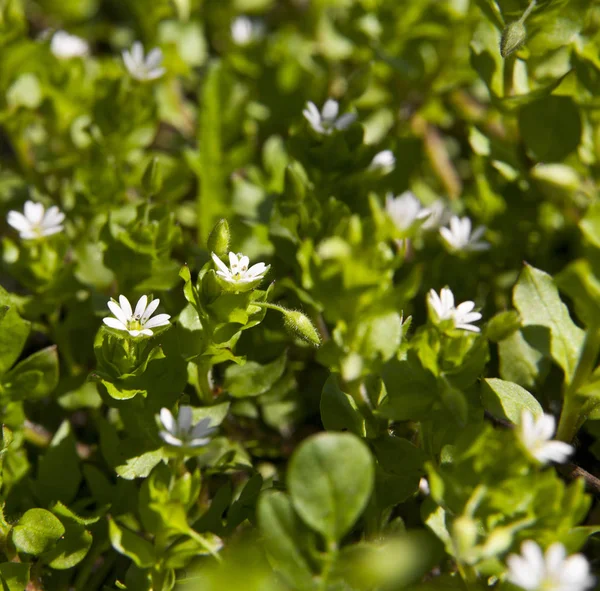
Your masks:
{"label": "shadowed green leaf at left edge, tip pointing up and right", "polygon": [[58,385],[56,345],[33,353],[18,363],[3,379],[11,400],[48,396]]}

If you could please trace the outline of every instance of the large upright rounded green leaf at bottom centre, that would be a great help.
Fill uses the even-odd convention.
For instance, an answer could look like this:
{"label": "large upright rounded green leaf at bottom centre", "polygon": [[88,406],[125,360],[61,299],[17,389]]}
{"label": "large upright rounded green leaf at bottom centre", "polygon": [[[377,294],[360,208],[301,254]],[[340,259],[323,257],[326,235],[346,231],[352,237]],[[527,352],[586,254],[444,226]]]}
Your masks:
{"label": "large upright rounded green leaf at bottom centre", "polygon": [[365,508],[373,476],[373,459],[360,439],[349,433],[322,433],[296,450],[287,481],[303,521],[337,542]]}

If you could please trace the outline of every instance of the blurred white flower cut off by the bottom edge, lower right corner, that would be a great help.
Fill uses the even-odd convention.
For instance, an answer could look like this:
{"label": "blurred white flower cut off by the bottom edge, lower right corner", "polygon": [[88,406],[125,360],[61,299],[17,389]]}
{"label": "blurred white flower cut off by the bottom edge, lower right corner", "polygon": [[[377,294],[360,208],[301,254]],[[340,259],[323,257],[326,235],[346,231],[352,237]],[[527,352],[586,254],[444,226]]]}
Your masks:
{"label": "blurred white flower cut off by the bottom edge, lower right corner", "polygon": [[533,540],[521,545],[521,554],[507,559],[508,580],[526,591],[585,591],[594,585],[590,565],[582,554],[567,558],[565,547],[556,542],[542,554]]}

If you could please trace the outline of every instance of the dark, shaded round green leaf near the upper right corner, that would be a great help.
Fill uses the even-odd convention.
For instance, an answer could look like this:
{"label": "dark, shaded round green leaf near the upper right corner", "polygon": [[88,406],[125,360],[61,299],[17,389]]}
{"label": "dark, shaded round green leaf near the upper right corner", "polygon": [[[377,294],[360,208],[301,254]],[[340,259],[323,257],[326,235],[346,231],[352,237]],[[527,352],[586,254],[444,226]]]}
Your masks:
{"label": "dark, shaded round green leaf near the upper right corner", "polygon": [[550,95],[519,110],[519,128],[536,160],[559,162],[581,141],[579,108],[569,96]]}

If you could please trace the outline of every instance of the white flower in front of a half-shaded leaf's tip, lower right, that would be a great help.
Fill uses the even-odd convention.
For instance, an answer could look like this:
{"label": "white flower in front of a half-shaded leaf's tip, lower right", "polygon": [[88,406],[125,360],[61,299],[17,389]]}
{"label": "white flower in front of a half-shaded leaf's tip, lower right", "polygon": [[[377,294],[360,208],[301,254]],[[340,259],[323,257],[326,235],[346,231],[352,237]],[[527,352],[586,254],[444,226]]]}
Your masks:
{"label": "white flower in front of a half-shaded leaf's tip, lower right", "polygon": [[543,414],[537,419],[533,413],[523,409],[517,435],[525,449],[542,464],[565,462],[574,449],[564,441],[551,441],[556,430],[552,415]]}

